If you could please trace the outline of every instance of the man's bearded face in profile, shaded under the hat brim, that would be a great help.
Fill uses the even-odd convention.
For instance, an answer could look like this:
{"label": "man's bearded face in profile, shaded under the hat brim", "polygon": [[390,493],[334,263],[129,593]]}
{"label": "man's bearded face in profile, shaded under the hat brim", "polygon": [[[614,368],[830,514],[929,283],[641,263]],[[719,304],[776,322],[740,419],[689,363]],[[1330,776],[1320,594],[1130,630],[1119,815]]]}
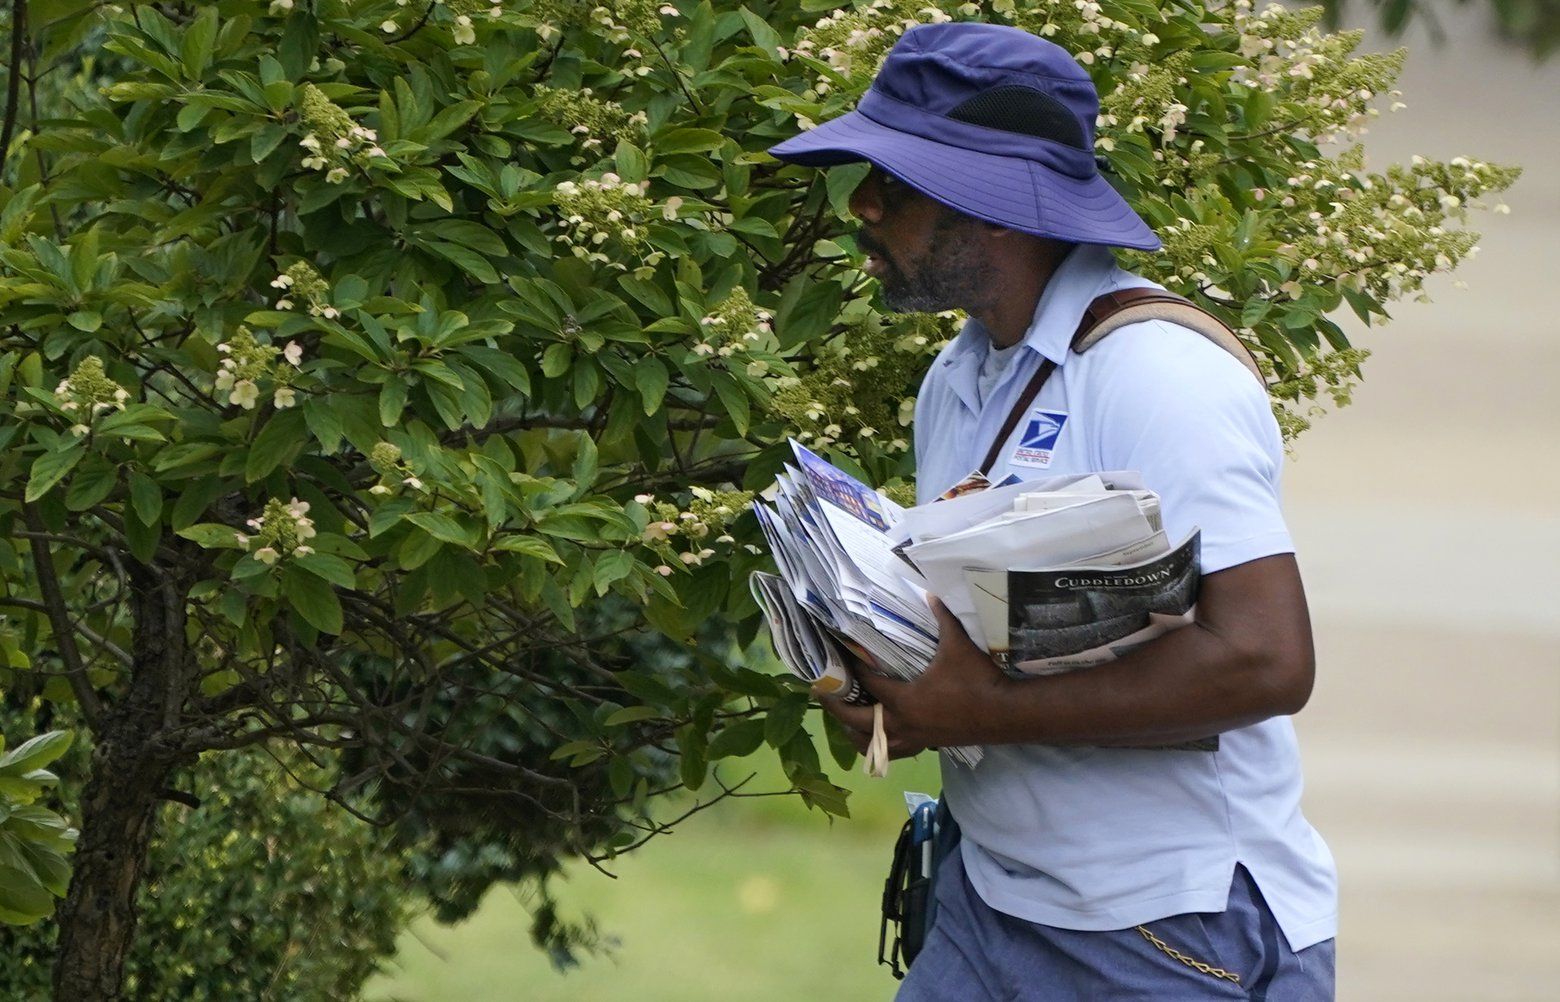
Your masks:
{"label": "man's bearded face in profile, shaded under the hat brim", "polygon": [[895,312],[969,309],[986,297],[980,223],[874,167],[850,195],[866,273]]}

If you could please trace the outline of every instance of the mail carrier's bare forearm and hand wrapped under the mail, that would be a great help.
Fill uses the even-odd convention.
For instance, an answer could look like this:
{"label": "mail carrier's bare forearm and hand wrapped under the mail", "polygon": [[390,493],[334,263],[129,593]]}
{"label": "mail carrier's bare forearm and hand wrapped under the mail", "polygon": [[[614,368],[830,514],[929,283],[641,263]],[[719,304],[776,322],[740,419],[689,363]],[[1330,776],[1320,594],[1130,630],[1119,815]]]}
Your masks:
{"label": "mail carrier's bare forearm and hand wrapped under the mail", "polygon": [[[1310,698],[1310,616],[1292,554],[1207,574],[1197,621],[1106,665],[1009,679],[958,618],[933,602],[938,656],[919,679],[870,671],[889,738],[953,744],[1175,744],[1298,712]],[[828,705],[870,734],[872,709]]]}

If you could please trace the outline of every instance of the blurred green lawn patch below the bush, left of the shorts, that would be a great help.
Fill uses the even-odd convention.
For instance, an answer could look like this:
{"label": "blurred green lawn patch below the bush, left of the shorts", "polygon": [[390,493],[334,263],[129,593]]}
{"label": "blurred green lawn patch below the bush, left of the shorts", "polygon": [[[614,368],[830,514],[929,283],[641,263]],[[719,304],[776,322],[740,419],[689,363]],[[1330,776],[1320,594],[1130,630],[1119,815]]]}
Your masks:
{"label": "blurred green lawn patch below the bush, left of the shorts", "polygon": [[[763,757],[763,752],[760,754]],[[746,763],[743,763],[746,765]],[[768,763],[755,766],[775,788]],[[423,919],[401,938],[371,1002],[704,1002],[741,997],[888,999],[877,966],[878,901],[903,790],[934,793],[936,759],[894,763],[886,780],[841,777],[853,818],[792,798],[729,801],[624,857],[608,879],[568,871],[560,894],[616,938],[610,957],[560,974],[527,938],[512,888],[493,888],[468,921]]]}

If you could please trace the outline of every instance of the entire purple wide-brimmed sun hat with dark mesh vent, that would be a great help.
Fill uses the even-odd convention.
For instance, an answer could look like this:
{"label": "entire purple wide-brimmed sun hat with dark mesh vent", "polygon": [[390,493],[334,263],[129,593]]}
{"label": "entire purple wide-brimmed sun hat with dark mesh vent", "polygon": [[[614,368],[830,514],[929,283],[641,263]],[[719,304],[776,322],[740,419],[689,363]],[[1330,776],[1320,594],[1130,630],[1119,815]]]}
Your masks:
{"label": "entire purple wide-brimmed sun hat with dark mesh vent", "polygon": [[1019,28],[917,25],[856,109],[769,150],[808,167],[869,161],[942,204],[1069,243],[1158,250],[1100,175],[1100,97],[1067,50]]}

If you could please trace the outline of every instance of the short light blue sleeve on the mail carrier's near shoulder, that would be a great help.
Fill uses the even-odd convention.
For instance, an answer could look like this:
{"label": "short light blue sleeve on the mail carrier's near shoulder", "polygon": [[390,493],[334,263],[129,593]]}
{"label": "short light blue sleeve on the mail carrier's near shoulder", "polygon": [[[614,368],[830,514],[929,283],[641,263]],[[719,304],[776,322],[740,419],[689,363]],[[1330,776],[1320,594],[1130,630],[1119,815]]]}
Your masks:
{"label": "short light blue sleeve on the mail carrier's near shoulder", "polygon": [[1197,331],[1151,320],[1095,345],[1100,462],[1159,493],[1170,542],[1201,529],[1203,573],[1293,553],[1284,442],[1267,392]]}

